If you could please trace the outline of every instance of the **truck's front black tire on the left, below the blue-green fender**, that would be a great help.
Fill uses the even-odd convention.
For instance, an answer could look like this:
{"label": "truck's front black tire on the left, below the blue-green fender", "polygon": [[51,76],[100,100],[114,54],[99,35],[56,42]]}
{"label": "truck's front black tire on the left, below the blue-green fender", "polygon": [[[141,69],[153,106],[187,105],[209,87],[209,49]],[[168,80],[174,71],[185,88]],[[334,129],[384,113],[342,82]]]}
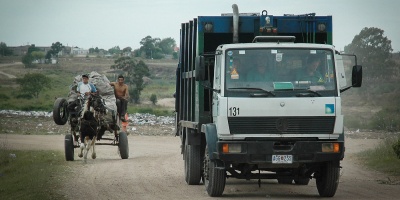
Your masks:
{"label": "truck's front black tire on the left, below the blue-green fender", "polygon": [[226,172],[225,170],[217,169],[216,161],[210,160],[207,147],[204,153],[203,171],[203,181],[207,194],[210,197],[221,196],[225,189]]}

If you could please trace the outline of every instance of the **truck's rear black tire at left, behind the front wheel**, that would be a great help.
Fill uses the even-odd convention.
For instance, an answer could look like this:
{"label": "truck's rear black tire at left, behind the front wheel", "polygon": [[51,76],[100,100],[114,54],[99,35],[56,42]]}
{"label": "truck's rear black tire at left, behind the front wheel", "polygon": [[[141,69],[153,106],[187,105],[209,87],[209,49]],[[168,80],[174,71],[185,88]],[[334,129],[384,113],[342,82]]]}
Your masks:
{"label": "truck's rear black tire at left, behind the front wheel", "polygon": [[185,145],[185,181],[188,185],[198,185],[201,180],[200,145]]}

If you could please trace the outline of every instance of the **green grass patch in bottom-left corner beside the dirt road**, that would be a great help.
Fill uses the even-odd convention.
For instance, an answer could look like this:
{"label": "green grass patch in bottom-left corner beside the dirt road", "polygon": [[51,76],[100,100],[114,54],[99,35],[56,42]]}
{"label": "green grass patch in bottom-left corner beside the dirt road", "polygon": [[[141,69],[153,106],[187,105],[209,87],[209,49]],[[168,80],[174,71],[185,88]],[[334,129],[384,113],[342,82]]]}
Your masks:
{"label": "green grass patch in bottom-left corner beside the dirt road", "polygon": [[[14,156],[15,155],[15,156]],[[1,199],[66,199],[61,195],[67,170],[62,152],[0,147]]]}

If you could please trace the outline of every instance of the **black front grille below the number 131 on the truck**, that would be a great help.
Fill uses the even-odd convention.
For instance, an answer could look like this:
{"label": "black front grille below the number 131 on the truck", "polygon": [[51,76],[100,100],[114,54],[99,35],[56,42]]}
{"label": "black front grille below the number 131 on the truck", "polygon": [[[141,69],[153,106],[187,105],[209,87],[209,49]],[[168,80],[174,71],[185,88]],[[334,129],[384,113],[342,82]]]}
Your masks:
{"label": "black front grille below the number 131 on the truck", "polygon": [[231,134],[332,134],[335,117],[228,117]]}

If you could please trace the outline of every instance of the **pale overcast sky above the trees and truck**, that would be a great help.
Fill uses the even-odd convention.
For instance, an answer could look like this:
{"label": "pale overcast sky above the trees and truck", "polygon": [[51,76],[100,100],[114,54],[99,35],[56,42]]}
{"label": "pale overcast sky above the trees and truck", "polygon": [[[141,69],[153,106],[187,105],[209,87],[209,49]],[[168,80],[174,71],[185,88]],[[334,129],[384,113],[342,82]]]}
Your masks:
{"label": "pale overcast sky above the trees and truck", "polygon": [[400,51],[399,0],[0,0],[0,41],[136,49],[150,35],[172,37],[179,45],[182,22],[231,13],[233,3],[247,13],[332,15],[338,50],[362,28],[377,27],[392,41],[393,52]]}

